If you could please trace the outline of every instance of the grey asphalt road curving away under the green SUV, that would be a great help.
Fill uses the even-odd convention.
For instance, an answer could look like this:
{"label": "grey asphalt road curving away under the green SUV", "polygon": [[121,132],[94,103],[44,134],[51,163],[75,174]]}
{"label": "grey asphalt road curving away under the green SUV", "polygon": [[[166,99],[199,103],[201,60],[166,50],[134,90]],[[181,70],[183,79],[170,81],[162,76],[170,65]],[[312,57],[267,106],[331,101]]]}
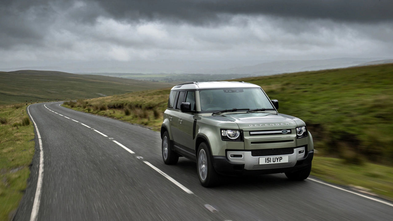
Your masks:
{"label": "grey asphalt road curving away under the green SUV", "polygon": [[[222,185],[204,188],[194,162],[163,163],[159,133],[59,104],[29,107],[44,154],[37,220],[392,220],[388,204],[283,174],[225,177]],[[31,218],[40,164],[37,133],[35,143],[15,220]]]}

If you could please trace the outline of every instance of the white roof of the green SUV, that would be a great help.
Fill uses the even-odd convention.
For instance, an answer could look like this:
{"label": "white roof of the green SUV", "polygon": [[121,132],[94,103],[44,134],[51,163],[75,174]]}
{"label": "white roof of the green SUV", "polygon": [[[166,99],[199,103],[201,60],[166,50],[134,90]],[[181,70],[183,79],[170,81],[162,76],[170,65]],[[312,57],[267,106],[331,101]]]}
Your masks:
{"label": "white roof of the green SUV", "polygon": [[172,90],[184,89],[204,89],[204,88],[244,88],[244,87],[259,87],[246,82],[239,81],[209,81],[209,82],[194,82],[186,83],[184,85],[176,85]]}

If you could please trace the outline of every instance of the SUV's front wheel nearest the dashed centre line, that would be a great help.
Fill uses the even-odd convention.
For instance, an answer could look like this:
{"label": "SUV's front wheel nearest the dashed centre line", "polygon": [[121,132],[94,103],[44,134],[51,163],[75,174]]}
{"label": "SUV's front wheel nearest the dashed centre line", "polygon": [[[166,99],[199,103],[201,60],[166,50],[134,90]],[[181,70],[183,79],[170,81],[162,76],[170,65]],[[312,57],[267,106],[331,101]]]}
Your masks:
{"label": "SUV's front wheel nearest the dashed centre line", "polygon": [[196,171],[200,184],[204,187],[216,186],[219,183],[219,174],[213,167],[209,147],[205,142],[199,144],[196,156]]}

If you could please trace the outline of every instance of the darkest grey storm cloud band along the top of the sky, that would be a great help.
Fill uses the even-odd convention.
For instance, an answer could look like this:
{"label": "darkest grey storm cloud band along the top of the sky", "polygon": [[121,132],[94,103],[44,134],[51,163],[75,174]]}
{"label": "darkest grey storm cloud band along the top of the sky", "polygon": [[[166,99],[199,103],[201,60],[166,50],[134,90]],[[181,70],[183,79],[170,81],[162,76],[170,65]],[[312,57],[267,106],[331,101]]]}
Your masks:
{"label": "darkest grey storm cloud band along the top of the sky", "polygon": [[392,0],[97,0],[113,17],[169,19],[196,24],[219,15],[273,15],[349,22],[393,20]]}

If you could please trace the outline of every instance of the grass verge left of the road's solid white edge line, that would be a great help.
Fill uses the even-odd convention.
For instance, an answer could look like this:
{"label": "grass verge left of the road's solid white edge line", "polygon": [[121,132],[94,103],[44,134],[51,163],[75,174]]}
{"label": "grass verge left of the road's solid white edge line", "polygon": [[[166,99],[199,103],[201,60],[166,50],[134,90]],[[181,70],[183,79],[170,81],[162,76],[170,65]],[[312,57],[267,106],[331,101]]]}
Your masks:
{"label": "grass verge left of the road's solid white edge line", "polygon": [[27,186],[34,129],[24,105],[0,106],[0,119],[0,220],[8,220]]}

